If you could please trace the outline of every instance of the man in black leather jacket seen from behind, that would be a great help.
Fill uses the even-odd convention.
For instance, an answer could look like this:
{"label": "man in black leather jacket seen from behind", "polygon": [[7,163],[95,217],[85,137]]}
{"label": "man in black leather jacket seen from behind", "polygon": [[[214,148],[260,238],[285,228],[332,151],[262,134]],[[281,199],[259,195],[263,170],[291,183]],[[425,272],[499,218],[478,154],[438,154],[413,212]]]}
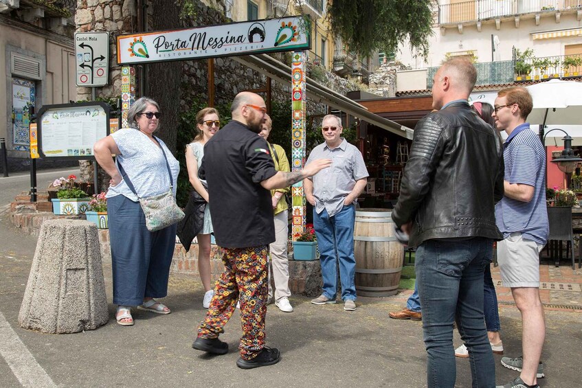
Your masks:
{"label": "man in black leather jacket seen from behind", "polygon": [[469,350],[473,387],[495,387],[495,365],[483,315],[484,266],[493,241],[495,202],[503,194],[503,155],[495,130],[467,100],[477,80],[473,64],[448,60],[436,72],[435,112],[414,128],[392,219],[416,248],[430,388],[456,380],[453,323]]}

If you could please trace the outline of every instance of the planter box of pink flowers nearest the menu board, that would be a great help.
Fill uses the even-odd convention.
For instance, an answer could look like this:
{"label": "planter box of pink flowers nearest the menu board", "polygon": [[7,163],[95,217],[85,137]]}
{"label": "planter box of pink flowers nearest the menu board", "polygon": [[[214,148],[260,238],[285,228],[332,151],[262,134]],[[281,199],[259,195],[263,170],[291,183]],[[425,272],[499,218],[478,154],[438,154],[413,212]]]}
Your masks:
{"label": "planter box of pink flowers nearest the menu board", "polygon": [[57,188],[56,198],[52,201],[52,210],[57,215],[83,214],[89,207],[88,195],[80,189],[76,176],[69,175],[67,179],[60,177],[52,186]]}

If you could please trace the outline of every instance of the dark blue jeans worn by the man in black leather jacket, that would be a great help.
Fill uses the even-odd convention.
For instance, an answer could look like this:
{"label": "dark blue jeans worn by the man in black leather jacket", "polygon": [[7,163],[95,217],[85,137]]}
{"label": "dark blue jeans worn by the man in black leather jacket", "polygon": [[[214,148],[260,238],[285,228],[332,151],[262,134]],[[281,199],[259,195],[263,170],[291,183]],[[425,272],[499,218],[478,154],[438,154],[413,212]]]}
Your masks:
{"label": "dark blue jeans worn by the man in black leather jacket", "polygon": [[416,249],[429,388],[455,386],[455,319],[469,348],[473,388],[495,387],[495,363],[483,316],[484,267],[492,253],[493,242],[487,238],[427,240]]}

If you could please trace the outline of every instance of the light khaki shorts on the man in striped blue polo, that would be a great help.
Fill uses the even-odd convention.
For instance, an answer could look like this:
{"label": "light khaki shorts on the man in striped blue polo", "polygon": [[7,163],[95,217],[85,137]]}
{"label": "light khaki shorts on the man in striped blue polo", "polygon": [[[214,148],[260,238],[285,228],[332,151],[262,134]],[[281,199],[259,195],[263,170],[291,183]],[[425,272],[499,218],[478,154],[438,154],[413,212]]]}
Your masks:
{"label": "light khaki shorts on the man in striped blue polo", "polygon": [[511,233],[497,242],[497,262],[504,287],[539,287],[539,253],[544,245]]}

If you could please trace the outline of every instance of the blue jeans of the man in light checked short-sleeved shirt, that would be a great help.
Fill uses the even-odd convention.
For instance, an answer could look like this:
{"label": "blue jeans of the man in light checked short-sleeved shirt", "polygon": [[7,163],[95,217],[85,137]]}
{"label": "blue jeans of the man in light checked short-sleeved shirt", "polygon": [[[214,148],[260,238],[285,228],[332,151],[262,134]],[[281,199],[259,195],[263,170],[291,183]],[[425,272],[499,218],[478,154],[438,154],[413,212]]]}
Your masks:
{"label": "blue jeans of the man in light checked short-sleeved shirt", "polygon": [[313,227],[320,249],[320,263],[324,281],[323,295],[335,300],[337,294],[337,263],[342,282],[342,300],[356,300],[356,260],[354,258],[354,205],[344,206],[330,217],[324,209],[320,214],[313,208]]}

